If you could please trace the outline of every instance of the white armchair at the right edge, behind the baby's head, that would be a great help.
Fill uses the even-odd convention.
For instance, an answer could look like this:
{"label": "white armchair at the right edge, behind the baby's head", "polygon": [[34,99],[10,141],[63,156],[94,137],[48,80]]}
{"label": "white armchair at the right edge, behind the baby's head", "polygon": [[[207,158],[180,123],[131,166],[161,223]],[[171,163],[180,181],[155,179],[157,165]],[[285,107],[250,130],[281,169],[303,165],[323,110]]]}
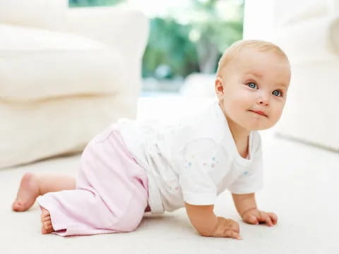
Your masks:
{"label": "white armchair at the right edge, behind the baby's head", "polygon": [[278,133],[339,151],[339,1],[246,0],[244,38],[270,40],[292,80]]}

